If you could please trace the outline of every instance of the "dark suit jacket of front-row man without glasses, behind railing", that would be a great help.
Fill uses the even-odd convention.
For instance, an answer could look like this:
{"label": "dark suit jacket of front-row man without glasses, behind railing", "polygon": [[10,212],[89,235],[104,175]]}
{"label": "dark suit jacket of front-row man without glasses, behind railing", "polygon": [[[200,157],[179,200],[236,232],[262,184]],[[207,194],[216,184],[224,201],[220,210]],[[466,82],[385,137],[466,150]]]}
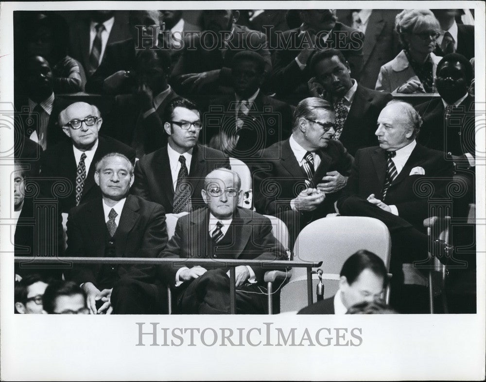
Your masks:
{"label": "dark suit jacket of front-row man without glasses, behind railing", "polygon": [[[147,257],[154,258],[167,244],[164,209],[138,196],[128,195],[115,233],[114,251],[107,251],[102,198],[72,208],[68,218],[69,257]],[[113,288],[120,278],[155,282],[152,265],[73,265],[70,280],[92,282],[98,289]]]}

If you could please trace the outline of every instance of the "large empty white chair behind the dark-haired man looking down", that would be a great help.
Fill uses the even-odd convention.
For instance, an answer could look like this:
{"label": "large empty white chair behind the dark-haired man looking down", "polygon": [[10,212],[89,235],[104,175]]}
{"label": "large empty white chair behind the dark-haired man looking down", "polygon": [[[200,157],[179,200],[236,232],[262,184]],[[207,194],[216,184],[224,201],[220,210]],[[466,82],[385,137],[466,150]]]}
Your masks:
{"label": "large empty white chair behind the dark-haired man looking down", "polygon": [[[344,262],[353,253],[366,249],[378,255],[388,270],[391,240],[388,228],[378,219],[336,216],[318,219],[299,233],[294,245],[294,259],[323,261],[324,298],[339,288],[339,274]],[[315,268],[313,268],[315,270]],[[313,275],[313,297],[317,275]],[[280,311],[300,310],[307,306],[307,274],[305,268],[294,268],[292,277],[280,294]]]}

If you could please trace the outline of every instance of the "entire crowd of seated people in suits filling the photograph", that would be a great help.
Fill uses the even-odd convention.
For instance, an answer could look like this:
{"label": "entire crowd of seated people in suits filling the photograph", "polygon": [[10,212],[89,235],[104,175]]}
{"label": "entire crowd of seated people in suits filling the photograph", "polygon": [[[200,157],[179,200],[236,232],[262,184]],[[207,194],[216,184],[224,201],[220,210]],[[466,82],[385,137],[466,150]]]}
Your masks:
{"label": "entire crowd of seated people in suits filling the photograph", "polygon": [[[353,255],[339,298],[301,313],[423,313],[414,298],[427,290],[405,285],[403,264],[429,253],[468,264],[443,293],[451,312],[475,312],[468,12],[18,11],[12,241],[16,256],[59,264],[16,263],[16,312],[168,313],[169,287],[175,313],[229,313],[229,268],[180,259],[288,260],[299,232],[328,214],[381,220],[391,262]],[[462,219],[451,243],[424,228],[437,200]],[[172,237],[166,214],[177,214]],[[110,257],[179,261],[96,260]],[[268,269],[236,267],[237,313],[269,313]],[[391,308],[353,298],[361,283],[380,295],[388,270]]]}

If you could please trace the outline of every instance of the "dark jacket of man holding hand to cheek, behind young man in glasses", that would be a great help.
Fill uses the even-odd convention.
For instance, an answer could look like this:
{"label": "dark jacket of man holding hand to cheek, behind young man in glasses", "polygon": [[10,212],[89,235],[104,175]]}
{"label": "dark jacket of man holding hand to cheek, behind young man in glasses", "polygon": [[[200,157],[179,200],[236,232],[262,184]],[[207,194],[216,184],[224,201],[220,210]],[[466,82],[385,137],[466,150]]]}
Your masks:
{"label": "dark jacket of man holding hand to cheek, behind young man in glasses", "polygon": [[[104,134],[119,140],[126,145],[141,149],[137,157],[152,153],[167,144],[167,134],[164,130],[163,113],[166,106],[178,95],[171,92],[162,101],[155,113],[143,118],[139,105],[131,94],[121,94],[115,97],[115,103],[103,125]],[[132,147],[133,147],[132,146]]]}

